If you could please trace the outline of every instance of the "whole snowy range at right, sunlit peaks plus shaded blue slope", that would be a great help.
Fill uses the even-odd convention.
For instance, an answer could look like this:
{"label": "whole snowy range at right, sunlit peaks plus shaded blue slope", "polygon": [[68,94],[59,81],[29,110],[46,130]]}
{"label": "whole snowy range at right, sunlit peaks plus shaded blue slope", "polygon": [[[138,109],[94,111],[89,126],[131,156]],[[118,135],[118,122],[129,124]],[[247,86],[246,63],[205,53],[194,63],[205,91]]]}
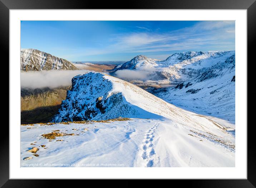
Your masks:
{"label": "whole snowy range at right, sunlit peaks plus shaded blue slope", "polygon": [[149,80],[155,84],[178,84],[148,88],[155,96],[183,109],[235,122],[235,51],[188,51],[161,61],[139,55],[116,66],[112,75],[143,69],[152,71],[140,80],[142,84],[148,85]]}

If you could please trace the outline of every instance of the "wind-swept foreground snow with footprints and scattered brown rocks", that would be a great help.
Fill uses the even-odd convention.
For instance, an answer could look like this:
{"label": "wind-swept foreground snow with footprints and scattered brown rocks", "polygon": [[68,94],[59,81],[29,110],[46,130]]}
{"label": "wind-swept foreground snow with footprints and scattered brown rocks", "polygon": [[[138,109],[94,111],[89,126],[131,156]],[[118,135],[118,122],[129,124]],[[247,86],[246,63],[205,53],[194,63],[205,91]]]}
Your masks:
{"label": "wind-swept foreground snow with footprints and scattered brown rocks", "polygon": [[[41,136],[56,129],[75,135],[56,137],[51,142]],[[168,119],[137,118],[110,123],[21,126],[20,166],[235,167],[235,152],[232,148],[190,130]],[[207,135],[206,132],[204,134]],[[222,132],[221,136],[223,138],[215,135],[218,139],[234,144],[230,134]],[[39,148],[36,152],[39,157],[27,152],[32,147]],[[25,157],[33,158],[23,160]]]}

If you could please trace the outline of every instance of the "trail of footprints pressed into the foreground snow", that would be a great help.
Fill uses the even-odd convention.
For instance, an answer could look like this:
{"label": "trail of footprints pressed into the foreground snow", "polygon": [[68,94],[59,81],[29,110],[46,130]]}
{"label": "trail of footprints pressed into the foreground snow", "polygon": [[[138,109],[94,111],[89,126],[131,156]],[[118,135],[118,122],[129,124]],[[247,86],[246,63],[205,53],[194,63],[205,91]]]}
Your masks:
{"label": "trail of footprints pressed into the foreground snow", "polygon": [[146,139],[144,139],[143,142],[143,154],[142,154],[142,158],[143,160],[146,161],[147,163],[147,167],[153,167],[154,165],[154,156],[155,150],[154,150],[154,144],[153,144],[153,140],[154,140],[154,133],[156,132],[156,129],[158,128],[159,123],[156,123],[153,127],[151,127],[147,134],[146,134]]}

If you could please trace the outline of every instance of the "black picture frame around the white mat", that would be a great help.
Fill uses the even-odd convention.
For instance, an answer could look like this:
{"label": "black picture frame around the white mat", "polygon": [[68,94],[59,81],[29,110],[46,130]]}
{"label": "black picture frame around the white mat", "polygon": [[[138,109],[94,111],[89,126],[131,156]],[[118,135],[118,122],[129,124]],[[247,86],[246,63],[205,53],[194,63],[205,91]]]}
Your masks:
{"label": "black picture frame around the white mat", "polygon": [[[255,70],[253,46],[256,35],[255,0],[130,0],[128,3],[89,0],[0,0],[0,40],[1,53],[9,62],[9,10],[10,9],[246,9],[247,10],[247,60],[251,62],[249,71]],[[253,62],[254,61],[254,62]],[[246,63],[245,63],[246,65]],[[249,64],[247,63],[247,66]],[[254,67],[253,67],[254,66]],[[10,71],[10,70],[9,70]],[[255,74],[255,73],[254,73]],[[253,72],[247,72],[248,89],[253,85]],[[252,79],[250,79],[250,76]],[[255,85],[255,84],[254,84]],[[7,86],[8,87],[8,86]],[[253,86],[254,88],[254,86]],[[7,89],[6,89],[7,91]],[[8,91],[9,92],[9,91]],[[247,91],[247,100],[255,106],[255,91]],[[9,97],[9,102],[10,102]],[[7,111],[7,110],[6,110]],[[9,112],[9,110],[8,110]],[[247,110],[247,117],[253,117],[253,110]],[[9,112],[11,113],[11,112]],[[248,123],[247,123],[248,124]],[[10,126],[10,125],[9,125]],[[246,125],[244,125],[246,126]],[[247,179],[222,180],[173,180],[183,187],[256,187],[255,130],[254,124],[247,126]],[[0,187],[48,187],[50,180],[10,180],[9,179],[9,129],[1,136]],[[8,133],[8,134],[7,134]],[[28,174],[29,178],[29,174]]]}

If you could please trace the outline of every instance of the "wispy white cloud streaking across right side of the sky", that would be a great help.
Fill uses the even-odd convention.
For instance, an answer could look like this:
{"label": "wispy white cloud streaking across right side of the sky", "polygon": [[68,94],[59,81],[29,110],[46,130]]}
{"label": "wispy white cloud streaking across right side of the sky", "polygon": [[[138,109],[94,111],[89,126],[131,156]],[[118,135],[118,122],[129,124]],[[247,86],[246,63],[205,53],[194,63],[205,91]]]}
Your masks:
{"label": "wispy white cloud streaking across right side of the sky", "polygon": [[[104,55],[116,53],[158,53],[158,58],[168,51],[234,50],[235,21],[202,21],[193,26],[166,33],[151,31],[137,26],[142,31],[111,36],[110,44],[101,48],[79,49],[75,55]],[[159,54],[161,53],[162,54]],[[171,54],[168,54],[171,55]],[[148,55],[150,56],[150,55]]]}

